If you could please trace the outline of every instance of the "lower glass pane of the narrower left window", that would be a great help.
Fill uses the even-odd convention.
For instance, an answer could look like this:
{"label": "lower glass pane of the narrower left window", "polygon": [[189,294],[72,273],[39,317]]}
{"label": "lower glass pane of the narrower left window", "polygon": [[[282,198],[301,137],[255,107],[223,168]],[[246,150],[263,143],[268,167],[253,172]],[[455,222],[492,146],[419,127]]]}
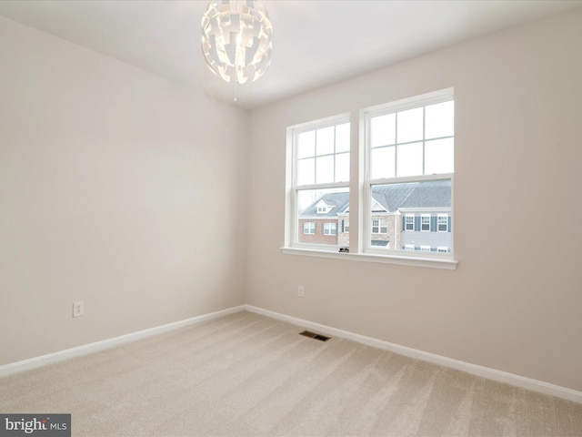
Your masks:
{"label": "lower glass pane of the narrower left window", "polygon": [[[340,226],[349,219],[348,189],[297,191],[296,242],[349,246],[349,227]],[[326,213],[317,213],[318,208],[326,208]],[[309,229],[309,233],[304,229]]]}

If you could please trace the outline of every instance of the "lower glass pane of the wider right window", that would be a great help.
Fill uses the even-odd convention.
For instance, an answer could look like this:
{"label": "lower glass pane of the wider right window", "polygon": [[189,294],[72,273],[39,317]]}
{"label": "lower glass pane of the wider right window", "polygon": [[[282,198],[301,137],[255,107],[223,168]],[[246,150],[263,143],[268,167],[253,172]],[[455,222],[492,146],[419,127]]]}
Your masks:
{"label": "lower glass pane of the wider right window", "polygon": [[370,248],[405,250],[424,246],[437,251],[437,246],[451,247],[451,232],[446,226],[451,208],[450,179],[375,185],[372,197],[375,207],[368,212],[372,225]]}

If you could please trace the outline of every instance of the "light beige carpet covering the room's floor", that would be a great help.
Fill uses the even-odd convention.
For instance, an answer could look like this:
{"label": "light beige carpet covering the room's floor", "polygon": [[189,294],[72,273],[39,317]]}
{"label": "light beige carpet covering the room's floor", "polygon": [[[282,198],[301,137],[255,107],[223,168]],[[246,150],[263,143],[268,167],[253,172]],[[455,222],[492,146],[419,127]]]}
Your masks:
{"label": "light beige carpet covering the room's floor", "polygon": [[582,405],[239,312],[0,379],[74,436],[581,436]]}

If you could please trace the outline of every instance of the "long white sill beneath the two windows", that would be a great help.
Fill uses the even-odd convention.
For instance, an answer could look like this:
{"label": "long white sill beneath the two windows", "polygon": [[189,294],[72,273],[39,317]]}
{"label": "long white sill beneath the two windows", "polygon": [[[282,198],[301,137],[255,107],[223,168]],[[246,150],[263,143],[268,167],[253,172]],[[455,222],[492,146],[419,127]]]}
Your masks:
{"label": "long white sill beneath the two windows", "polygon": [[431,269],[457,269],[458,261],[450,258],[423,258],[406,257],[396,255],[379,255],[376,253],[349,253],[332,252],[330,250],[304,249],[304,248],[281,248],[287,255],[303,255],[305,257],[317,257],[328,259],[347,259],[350,261],[380,262],[385,264],[396,264],[400,266],[427,267]]}

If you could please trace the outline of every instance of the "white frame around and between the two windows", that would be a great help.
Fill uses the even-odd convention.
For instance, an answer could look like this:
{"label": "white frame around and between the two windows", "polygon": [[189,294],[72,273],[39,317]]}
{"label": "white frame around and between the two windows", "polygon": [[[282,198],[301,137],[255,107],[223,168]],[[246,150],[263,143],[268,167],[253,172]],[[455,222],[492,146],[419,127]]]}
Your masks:
{"label": "white frame around and between the two windows", "polygon": [[[403,250],[404,243],[397,246],[396,239],[390,236],[390,250],[376,249],[371,247],[371,188],[374,185],[382,184],[396,184],[406,183],[410,181],[422,180],[442,180],[447,179],[451,181],[451,209],[450,216],[454,215],[454,173],[439,174],[439,175],[425,175],[414,178],[383,178],[370,179],[369,168],[369,148],[366,144],[369,137],[369,127],[371,117],[376,117],[381,111],[385,114],[390,112],[399,112],[413,107],[425,107],[437,103],[446,102],[454,99],[453,89],[447,88],[445,90],[437,91],[435,93],[428,93],[423,96],[406,98],[396,102],[380,105],[376,107],[368,107],[360,109],[347,114],[342,114],[334,117],[320,118],[318,120],[287,127],[287,147],[286,147],[286,215],[285,215],[285,241],[282,248],[286,254],[299,256],[312,256],[332,259],[349,259],[356,261],[371,261],[390,263],[406,266],[430,267],[437,269],[456,269],[457,260],[453,257],[453,233],[451,232],[451,251],[448,248],[439,247],[438,249],[446,249],[447,253],[438,253],[439,250],[427,252],[421,250]],[[351,117],[351,118],[350,118]],[[350,179],[349,182],[335,182],[329,184],[312,184],[298,187],[296,185],[296,136],[301,132],[322,128],[326,126],[340,125],[343,123],[350,123]],[[457,145],[455,148],[458,148]],[[317,188],[349,188],[350,208],[349,208],[349,222],[354,224],[354,229],[348,229],[350,232],[349,252],[337,253],[334,245],[321,244],[307,244],[298,243],[297,236],[297,193],[302,189],[317,189]],[[406,218],[406,215],[403,215]],[[409,214],[410,217],[414,217]],[[447,217],[449,215],[447,214]],[[401,229],[402,216],[396,213],[395,222],[396,229],[399,232],[412,230],[415,226],[415,219],[412,219],[412,229]],[[347,223],[349,223],[347,222]],[[339,223],[339,221],[338,221]],[[429,225],[430,226],[430,225]],[[336,235],[339,224],[336,227]],[[395,237],[396,237],[395,229]],[[433,229],[437,230],[437,229]],[[450,229],[447,229],[450,232]],[[394,241],[392,241],[394,239]]]}

